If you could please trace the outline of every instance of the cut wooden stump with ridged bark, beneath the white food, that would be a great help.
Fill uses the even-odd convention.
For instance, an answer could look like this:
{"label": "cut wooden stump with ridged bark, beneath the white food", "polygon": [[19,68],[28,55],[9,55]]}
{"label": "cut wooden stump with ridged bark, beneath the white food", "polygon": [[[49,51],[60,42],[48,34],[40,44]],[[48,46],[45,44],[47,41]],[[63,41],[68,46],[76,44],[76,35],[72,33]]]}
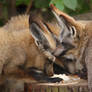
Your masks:
{"label": "cut wooden stump with ridged bark, beneath the white food", "polygon": [[25,92],[89,92],[87,81],[80,83],[25,83]]}

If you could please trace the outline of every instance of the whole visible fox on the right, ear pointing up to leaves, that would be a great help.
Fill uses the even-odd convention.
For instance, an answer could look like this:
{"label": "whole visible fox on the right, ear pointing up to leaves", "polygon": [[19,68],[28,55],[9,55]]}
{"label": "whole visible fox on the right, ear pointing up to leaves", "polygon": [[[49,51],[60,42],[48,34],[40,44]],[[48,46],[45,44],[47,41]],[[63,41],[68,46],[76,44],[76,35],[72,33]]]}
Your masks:
{"label": "whole visible fox on the right, ear pointing up to leaves", "polygon": [[61,27],[59,41],[64,49],[56,57],[70,73],[86,76],[92,92],[92,21],[77,21],[53,5],[51,8]]}

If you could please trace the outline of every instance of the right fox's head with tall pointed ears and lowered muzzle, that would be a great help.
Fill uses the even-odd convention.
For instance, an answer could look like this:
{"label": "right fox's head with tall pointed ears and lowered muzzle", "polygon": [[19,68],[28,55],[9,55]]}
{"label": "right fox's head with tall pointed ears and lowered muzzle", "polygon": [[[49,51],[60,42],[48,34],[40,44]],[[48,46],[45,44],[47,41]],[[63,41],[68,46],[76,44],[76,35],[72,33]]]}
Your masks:
{"label": "right fox's head with tall pointed ears and lowered muzzle", "polygon": [[[83,62],[78,61],[80,58],[80,47],[82,47],[83,32],[85,24],[76,21],[74,18],[58,10],[51,5],[52,12],[55,15],[60,29],[58,40],[61,43],[62,53],[56,54],[56,57],[63,62],[64,67],[70,72],[75,73],[83,69]],[[56,51],[56,53],[58,53]]]}

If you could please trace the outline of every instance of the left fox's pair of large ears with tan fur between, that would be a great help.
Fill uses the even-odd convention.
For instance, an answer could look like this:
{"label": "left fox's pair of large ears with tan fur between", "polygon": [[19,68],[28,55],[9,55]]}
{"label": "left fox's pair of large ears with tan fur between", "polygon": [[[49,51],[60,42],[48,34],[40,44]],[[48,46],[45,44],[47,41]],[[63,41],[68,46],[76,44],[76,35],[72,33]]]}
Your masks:
{"label": "left fox's pair of large ears with tan fur between", "polygon": [[40,44],[39,46],[43,46],[44,49],[56,48],[56,41],[40,14],[30,14],[29,28],[33,38],[38,43],[37,45]]}

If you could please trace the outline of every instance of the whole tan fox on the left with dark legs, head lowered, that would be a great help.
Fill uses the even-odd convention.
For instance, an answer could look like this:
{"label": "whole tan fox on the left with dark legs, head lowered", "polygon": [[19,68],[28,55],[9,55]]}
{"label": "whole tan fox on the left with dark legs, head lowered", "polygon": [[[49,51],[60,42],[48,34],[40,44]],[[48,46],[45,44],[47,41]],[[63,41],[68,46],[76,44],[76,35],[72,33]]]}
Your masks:
{"label": "whole tan fox on the left with dark legs, head lowered", "polygon": [[[59,42],[54,26],[35,14],[13,17],[0,28],[0,75],[28,73],[41,82],[57,82],[53,75],[53,61]],[[48,26],[51,25],[51,26]],[[57,26],[56,26],[57,27]],[[54,29],[55,30],[55,29]]]}

